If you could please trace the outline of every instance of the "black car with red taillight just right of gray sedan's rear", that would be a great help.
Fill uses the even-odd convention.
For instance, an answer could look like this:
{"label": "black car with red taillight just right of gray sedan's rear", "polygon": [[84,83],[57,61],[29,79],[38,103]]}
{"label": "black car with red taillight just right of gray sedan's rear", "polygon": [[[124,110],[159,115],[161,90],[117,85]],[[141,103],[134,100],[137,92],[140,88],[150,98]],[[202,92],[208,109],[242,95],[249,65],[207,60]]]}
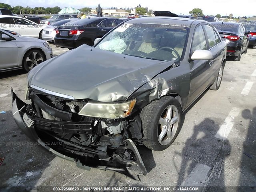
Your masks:
{"label": "black car with red taillight just right of gray sedan's rear", "polygon": [[234,22],[212,22],[212,25],[227,44],[227,56],[234,56],[235,61],[240,61],[249,46],[249,33],[244,25]]}

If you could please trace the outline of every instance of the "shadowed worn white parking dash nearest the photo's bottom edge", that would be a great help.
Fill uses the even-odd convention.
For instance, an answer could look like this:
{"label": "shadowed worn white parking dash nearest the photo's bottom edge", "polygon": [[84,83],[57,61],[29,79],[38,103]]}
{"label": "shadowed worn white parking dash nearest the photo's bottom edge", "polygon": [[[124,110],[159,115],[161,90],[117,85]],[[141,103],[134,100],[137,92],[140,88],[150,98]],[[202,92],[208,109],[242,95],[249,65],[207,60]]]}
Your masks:
{"label": "shadowed worn white parking dash nearest the photo's bottom edge", "polygon": [[197,164],[188,177],[182,182],[181,187],[185,186],[196,186],[202,187],[205,186],[206,181],[208,180],[207,173],[209,172],[210,167],[204,164]]}

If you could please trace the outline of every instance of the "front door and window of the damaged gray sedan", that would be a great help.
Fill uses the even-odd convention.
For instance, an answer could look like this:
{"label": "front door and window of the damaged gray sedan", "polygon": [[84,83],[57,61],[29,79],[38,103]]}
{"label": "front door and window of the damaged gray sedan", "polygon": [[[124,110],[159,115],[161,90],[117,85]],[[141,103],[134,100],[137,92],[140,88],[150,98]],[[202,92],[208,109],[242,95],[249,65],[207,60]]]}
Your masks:
{"label": "front door and window of the damaged gray sedan", "polygon": [[[195,50],[207,50],[208,45],[202,25],[195,28],[190,55]],[[191,104],[207,88],[212,60],[190,60],[191,84],[188,103]]]}

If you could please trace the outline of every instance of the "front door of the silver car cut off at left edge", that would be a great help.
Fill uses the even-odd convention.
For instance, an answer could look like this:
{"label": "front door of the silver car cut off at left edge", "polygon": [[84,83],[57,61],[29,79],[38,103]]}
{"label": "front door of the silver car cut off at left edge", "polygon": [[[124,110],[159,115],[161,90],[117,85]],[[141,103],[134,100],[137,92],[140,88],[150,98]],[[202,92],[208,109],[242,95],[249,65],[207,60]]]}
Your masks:
{"label": "front door of the silver car cut off at left edge", "polygon": [[2,40],[2,34],[5,34],[5,33],[0,31],[0,58],[1,58],[0,70],[12,68],[12,67],[18,67],[19,55],[18,55],[18,47],[15,43],[15,40],[12,40],[12,41]]}

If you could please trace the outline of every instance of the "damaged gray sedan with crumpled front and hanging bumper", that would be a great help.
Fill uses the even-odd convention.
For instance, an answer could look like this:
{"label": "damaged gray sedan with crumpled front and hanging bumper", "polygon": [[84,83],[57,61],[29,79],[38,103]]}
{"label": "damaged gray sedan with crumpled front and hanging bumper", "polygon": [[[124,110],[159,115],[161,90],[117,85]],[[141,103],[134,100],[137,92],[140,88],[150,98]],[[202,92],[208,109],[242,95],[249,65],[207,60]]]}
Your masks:
{"label": "damaged gray sedan with crumpled front and hanging bumper", "polygon": [[25,92],[30,104],[12,91],[13,116],[56,156],[136,178],[147,170],[135,144],[168,148],[182,112],[208,87],[220,87],[225,62],[226,43],[209,22],[127,20],[93,47],[33,68]]}

